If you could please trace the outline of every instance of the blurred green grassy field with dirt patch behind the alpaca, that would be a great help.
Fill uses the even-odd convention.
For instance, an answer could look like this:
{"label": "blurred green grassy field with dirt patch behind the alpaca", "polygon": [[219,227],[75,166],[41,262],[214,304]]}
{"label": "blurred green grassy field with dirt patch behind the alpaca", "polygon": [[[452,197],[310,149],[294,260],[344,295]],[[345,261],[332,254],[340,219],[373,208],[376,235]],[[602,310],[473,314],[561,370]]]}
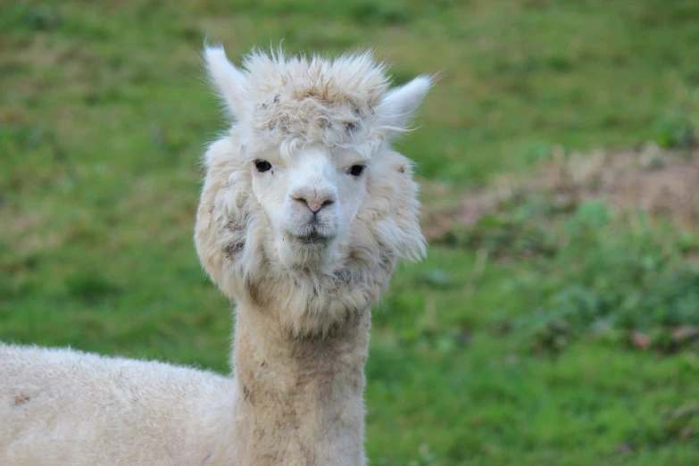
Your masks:
{"label": "blurred green grassy field with dirt patch behind the alpaca", "polygon": [[429,258],[376,306],[368,454],[699,464],[699,2],[0,4],[0,339],[228,370],[192,244],[204,37],[443,71]]}

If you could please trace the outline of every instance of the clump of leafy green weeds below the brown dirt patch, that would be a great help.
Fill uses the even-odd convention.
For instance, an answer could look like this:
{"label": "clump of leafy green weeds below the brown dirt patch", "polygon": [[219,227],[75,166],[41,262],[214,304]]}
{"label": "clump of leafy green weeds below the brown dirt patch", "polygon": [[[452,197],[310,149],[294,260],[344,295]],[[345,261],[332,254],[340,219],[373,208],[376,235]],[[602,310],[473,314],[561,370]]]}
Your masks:
{"label": "clump of leafy green weeds below the brown dirt patch", "polygon": [[533,276],[512,290],[528,296],[528,308],[507,319],[537,352],[558,353],[588,336],[628,342],[630,332],[664,352],[699,347],[691,330],[699,326],[699,268],[687,260],[699,237],[653,223],[602,201],[537,195],[515,197],[445,241],[532,262]]}

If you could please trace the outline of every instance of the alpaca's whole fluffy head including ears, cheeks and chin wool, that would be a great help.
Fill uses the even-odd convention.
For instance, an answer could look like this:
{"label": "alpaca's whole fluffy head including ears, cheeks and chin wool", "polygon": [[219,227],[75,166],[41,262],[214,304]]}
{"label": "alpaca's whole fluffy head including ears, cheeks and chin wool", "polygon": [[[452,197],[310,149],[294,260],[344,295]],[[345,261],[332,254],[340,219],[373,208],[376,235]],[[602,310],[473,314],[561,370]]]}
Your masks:
{"label": "alpaca's whole fluffy head including ears, cheeks and chin wool", "polygon": [[235,123],[206,156],[204,267],[227,295],[282,306],[295,334],[324,333],[424,254],[411,163],[388,143],[430,80],[389,90],[369,54],[254,52],[243,71],[221,48],[205,59]]}

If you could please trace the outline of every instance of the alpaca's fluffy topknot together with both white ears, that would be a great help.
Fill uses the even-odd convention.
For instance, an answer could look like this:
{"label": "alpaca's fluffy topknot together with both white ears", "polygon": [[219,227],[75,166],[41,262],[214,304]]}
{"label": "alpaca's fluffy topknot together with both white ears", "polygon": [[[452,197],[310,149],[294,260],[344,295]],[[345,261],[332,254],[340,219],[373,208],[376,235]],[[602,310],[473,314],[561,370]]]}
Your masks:
{"label": "alpaca's fluffy topknot together with both white ears", "polygon": [[419,77],[387,94],[385,65],[369,52],[328,60],[254,50],[245,56],[245,71],[235,69],[220,47],[206,49],[205,58],[214,87],[245,129],[240,143],[274,147],[287,157],[314,142],[370,156],[381,141],[405,130],[430,86],[428,77]]}

